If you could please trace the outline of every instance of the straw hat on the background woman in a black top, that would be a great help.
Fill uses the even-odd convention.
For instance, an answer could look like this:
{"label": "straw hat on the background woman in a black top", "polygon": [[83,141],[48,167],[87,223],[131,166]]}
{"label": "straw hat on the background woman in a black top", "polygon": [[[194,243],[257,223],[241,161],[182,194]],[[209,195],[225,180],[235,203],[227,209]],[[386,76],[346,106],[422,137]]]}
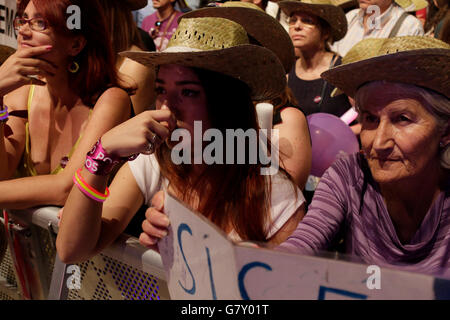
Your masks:
{"label": "straw hat on the background woman in a black top", "polygon": [[342,39],[347,33],[347,19],[344,10],[334,5],[332,0],[280,1],[278,5],[288,17],[296,11],[302,11],[322,18],[331,27],[333,41]]}

